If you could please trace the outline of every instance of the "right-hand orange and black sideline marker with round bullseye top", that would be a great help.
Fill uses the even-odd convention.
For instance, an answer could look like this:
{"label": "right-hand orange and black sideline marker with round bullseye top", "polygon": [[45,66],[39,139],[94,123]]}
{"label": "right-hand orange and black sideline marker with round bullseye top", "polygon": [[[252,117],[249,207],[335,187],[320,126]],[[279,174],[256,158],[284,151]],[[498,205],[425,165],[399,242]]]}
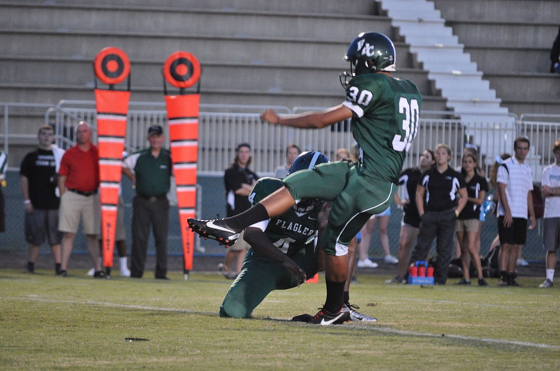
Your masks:
{"label": "right-hand orange and black sideline marker with round bullseye top", "polygon": [[[167,58],[163,72],[171,161],[183,240],[184,272],[185,279],[188,279],[188,273],[193,269],[194,232],[189,229],[186,220],[195,217],[196,208],[200,83],[196,94],[186,94],[185,89],[199,82],[202,71],[194,55],[177,51]],[[180,89],[179,95],[167,95],[166,81]]]}

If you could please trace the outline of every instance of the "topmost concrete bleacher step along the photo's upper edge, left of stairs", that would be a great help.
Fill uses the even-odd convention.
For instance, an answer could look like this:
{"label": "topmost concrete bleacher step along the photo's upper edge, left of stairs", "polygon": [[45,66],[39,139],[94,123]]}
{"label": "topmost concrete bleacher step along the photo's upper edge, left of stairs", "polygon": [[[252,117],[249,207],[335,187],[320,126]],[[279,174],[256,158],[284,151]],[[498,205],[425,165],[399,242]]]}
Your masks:
{"label": "topmost concrete bleacher step along the photo's upper edge, left of stairs", "polygon": [[[3,1],[3,3],[13,3]],[[48,2],[38,0],[18,0],[17,3],[46,4],[50,6],[86,6],[91,7],[91,0],[50,0]],[[115,4],[115,3],[118,3]],[[322,14],[374,14],[375,2],[371,0],[337,0],[337,1],[301,1],[301,0],[96,0],[96,7],[151,7],[153,9],[222,9],[222,10],[252,10],[267,12],[298,12],[298,13],[322,13]]]}

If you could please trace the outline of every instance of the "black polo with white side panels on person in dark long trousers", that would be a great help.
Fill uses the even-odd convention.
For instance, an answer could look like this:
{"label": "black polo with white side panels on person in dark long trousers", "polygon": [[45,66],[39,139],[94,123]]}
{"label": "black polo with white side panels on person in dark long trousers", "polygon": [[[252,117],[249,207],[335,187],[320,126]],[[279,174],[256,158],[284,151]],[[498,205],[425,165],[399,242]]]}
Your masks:
{"label": "black polo with white side panels on person in dark long trousers", "polygon": [[438,172],[436,167],[432,167],[422,175],[418,185],[426,187],[424,212],[440,212],[456,207],[456,193],[460,188],[466,187],[463,174],[450,167],[443,173]]}

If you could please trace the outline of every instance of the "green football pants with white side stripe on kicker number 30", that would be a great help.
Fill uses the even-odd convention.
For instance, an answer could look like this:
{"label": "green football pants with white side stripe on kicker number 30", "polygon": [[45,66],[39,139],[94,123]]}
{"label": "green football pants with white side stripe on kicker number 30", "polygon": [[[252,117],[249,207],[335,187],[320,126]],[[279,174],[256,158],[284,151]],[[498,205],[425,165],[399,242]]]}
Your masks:
{"label": "green football pants with white side stripe on kicker number 30", "polygon": [[283,180],[296,202],[320,198],[332,202],[329,222],[319,240],[329,255],[346,255],[348,244],[371,215],[385,211],[393,202],[396,184],[367,177],[361,165],[348,161],[319,164]]}

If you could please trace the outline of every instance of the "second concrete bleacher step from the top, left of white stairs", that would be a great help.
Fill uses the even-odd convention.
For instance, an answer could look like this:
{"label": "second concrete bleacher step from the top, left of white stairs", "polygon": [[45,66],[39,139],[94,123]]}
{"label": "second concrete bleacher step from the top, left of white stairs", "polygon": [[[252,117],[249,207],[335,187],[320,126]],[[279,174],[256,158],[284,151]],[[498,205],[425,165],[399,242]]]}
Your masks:
{"label": "second concrete bleacher step from the top, left of white stairs", "polygon": [[[45,17],[48,12],[48,17]],[[142,32],[206,36],[307,37],[347,40],[357,30],[391,31],[391,21],[381,16],[223,11],[216,9],[171,9],[146,7],[86,7],[0,2],[2,28],[51,31]],[[329,27],[324,27],[325,22]],[[219,26],[218,26],[219,25]]]}

